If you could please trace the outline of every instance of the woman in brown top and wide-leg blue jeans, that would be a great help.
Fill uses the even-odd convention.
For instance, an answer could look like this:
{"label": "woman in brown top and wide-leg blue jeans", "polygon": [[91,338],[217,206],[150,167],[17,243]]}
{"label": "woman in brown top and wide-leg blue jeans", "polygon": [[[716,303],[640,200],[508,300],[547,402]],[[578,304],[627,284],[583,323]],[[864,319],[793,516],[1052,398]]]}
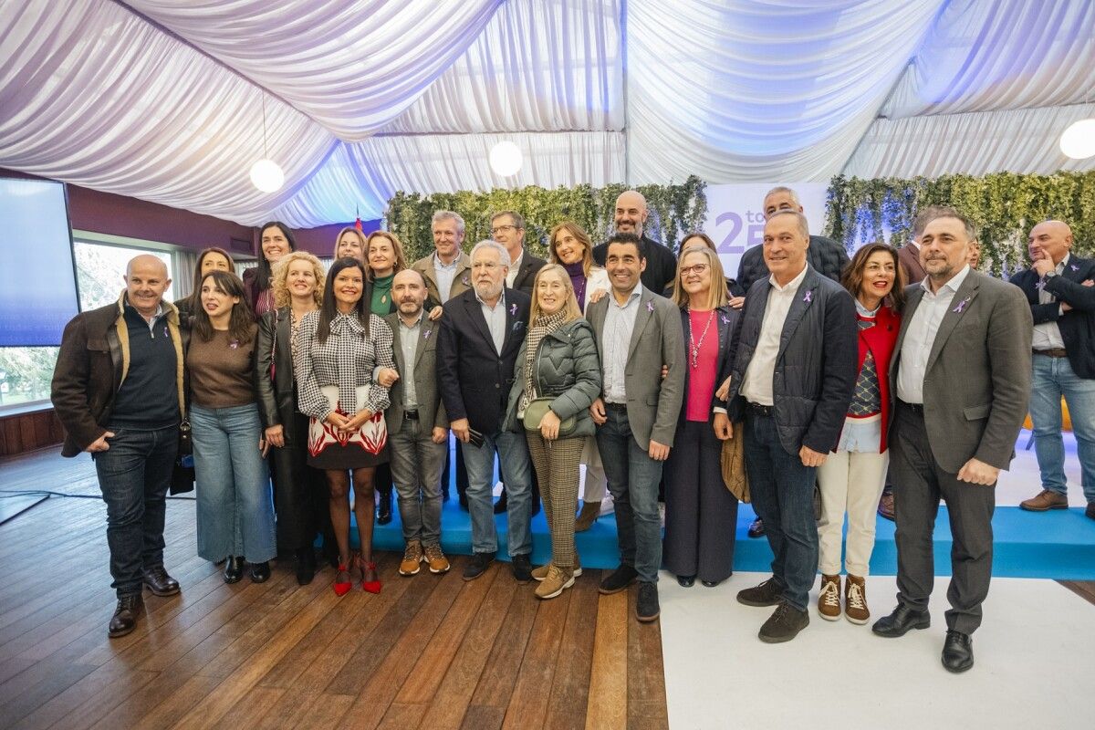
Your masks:
{"label": "woman in brown top and wide-leg blue jeans", "polygon": [[255,403],[255,321],[243,281],[211,271],[186,354],[197,477],[198,555],[226,560],[224,582],[269,578],[276,555],[266,442]]}

